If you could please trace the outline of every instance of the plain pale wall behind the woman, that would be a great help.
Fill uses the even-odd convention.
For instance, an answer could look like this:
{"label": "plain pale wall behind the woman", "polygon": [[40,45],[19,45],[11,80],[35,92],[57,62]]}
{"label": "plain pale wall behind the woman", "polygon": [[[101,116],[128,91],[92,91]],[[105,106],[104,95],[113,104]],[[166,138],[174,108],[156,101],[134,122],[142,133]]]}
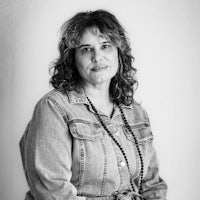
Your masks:
{"label": "plain pale wall behind the woman", "polygon": [[168,199],[200,199],[200,1],[1,0],[0,200],[22,200],[28,189],[18,142],[50,89],[61,24],[98,8],[113,12],[129,34],[136,99],[150,116]]}

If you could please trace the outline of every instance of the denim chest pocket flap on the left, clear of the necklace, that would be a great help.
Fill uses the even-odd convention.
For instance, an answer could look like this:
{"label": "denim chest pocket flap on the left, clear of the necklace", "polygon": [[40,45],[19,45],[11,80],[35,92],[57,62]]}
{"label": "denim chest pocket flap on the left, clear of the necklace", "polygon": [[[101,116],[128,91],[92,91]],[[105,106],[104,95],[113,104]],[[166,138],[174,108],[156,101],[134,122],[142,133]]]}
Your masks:
{"label": "denim chest pocket flap on the left, clear of the necklace", "polygon": [[105,138],[105,131],[99,124],[85,120],[73,120],[69,123],[69,129],[74,138],[95,141]]}

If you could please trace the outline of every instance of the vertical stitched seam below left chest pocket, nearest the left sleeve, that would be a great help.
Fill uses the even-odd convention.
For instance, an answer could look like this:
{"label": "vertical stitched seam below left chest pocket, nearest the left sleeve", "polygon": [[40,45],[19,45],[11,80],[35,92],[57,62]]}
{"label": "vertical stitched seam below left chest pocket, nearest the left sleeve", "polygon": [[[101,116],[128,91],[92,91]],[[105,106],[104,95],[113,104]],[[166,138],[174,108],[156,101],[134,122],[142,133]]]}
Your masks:
{"label": "vertical stitched seam below left chest pocket, nearest the left sleeve", "polygon": [[79,154],[80,154],[80,173],[79,173],[79,185],[77,187],[77,191],[79,193],[79,195],[82,194],[82,185],[83,185],[83,179],[84,179],[84,170],[85,170],[85,165],[84,165],[84,142],[83,140],[78,140],[79,144],[80,144],[80,150],[79,150]]}

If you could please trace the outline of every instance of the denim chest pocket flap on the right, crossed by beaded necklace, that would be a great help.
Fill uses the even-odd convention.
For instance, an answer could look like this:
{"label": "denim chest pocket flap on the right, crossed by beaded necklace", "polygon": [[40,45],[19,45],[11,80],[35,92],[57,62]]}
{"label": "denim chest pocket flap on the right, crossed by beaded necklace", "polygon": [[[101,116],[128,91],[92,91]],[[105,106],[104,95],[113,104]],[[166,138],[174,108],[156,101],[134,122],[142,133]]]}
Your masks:
{"label": "denim chest pocket flap on the right, crossed by beaded necklace", "polygon": [[[130,127],[140,145],[145,145],[152,142],[153,134],[151,132],[151,127],[148,123],[130,125]],[[126,126],[123,126],[123,130],[126,138],[135,143],[133,135],[130,133]]]}

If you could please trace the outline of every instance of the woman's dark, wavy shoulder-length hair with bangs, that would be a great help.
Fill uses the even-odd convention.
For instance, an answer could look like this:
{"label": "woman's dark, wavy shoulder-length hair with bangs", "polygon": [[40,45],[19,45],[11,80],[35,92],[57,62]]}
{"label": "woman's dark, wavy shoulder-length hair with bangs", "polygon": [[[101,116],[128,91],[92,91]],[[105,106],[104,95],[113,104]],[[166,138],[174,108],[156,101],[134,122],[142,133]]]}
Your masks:
{"label": "woman's dark, wavy shoulder-length hair with bangs", "polygon": [[75,66],[75,49],[88,28],[97,28],[118,49],[119,69],[110,84],[110,97],[116,104],[130,105],[137,88],[136,69],[132,66],[133,56],[124,28],[108,11],[80,12],[61,27],[59,57],[52,63],[50,83],[55,89],[66,93],[80,89],[81,77]]}

